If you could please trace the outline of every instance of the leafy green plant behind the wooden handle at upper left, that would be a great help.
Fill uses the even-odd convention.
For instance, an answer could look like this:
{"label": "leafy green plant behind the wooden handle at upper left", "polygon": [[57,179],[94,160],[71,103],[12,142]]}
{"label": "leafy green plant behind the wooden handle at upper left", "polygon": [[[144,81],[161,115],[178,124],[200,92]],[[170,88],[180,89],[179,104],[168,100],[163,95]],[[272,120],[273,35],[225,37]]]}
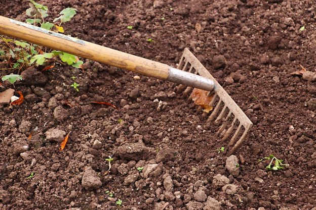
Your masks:
{"label": "leafy green plant behind the wooden handle at upper left", "polygon": [[[33,0],[28,0],[29,6],[26,10],[26,23],[41,27],[47,30],[63,32],[64,29],[60,26],[62,23],[68,22],[76,14],[76,9],[66,8],[60,12],[60,16],[54,19],[54,23],[59,22],[59,25],[46,22],[48,17],[48,7],[38,4]],[[43,47],[36,44],[30,44],[24,41],[7,39],[0,36],[0,60],[8,65],[8,68],[2,70],[21,70],[32,65],[45,65],[47,62],[58,62],[59,58],[63,63],[71,65],[75,68],[80,68],[83,61],[80,61],[76,56],[63,53],[62,51],[47,51]]]}

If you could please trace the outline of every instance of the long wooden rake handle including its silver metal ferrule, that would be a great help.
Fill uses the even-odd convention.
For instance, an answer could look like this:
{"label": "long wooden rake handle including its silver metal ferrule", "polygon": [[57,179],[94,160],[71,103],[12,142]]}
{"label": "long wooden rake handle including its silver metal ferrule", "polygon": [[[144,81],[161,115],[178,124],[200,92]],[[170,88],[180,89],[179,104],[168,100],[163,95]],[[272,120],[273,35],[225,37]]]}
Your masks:
{"label": "long wooden rake handle including its silver metal ferrule", "polygon": [[76,39],[3,16],[0,16],[0,33],[157,79],[168,80],[205,90],[212,90],[214,87],[213,81],[207,78],[174,69],[166,64],[133,56],[119,50]]}

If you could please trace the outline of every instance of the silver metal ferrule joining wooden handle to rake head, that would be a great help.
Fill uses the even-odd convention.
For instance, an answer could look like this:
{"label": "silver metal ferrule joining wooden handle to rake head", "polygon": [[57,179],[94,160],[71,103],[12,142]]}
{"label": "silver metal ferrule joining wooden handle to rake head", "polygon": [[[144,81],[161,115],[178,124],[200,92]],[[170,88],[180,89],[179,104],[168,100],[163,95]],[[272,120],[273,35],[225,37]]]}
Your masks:
{"label": "silver metal ferrule joining wooden handle to rake head", "polygon": [[214,88],[213,80],[173,67],[169,68],[169,77],[167,78],[167,80],[170,82],[175,82],[202,90],[211,91]]}

